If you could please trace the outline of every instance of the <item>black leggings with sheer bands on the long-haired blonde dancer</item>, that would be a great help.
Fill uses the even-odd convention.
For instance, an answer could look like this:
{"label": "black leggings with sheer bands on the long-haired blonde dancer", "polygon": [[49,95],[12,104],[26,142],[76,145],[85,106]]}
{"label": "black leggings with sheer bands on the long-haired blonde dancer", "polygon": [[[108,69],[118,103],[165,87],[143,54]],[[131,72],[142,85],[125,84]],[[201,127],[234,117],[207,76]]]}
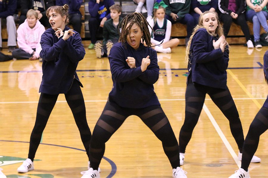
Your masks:
{"label": "black leggings with sheer bands on the long-haired blonde dancer", "polygon": [[194,127],[199,119],[206,93],[208,93],[212,101],[217,105],[217,107],[219,107],[225,117],[227,117],[229,120],[231,133],[236,140],[239,151],[242,152],[244,144],[243,129],[236,105],[228,87],[226,86],[226,89],[220,89],[200,85],[197,83],[194,84],[191,78],[189,78],[189,82],[186,87],[185,120],[179,136],[180,152],[185,153],[186,146],[191,139]]}

